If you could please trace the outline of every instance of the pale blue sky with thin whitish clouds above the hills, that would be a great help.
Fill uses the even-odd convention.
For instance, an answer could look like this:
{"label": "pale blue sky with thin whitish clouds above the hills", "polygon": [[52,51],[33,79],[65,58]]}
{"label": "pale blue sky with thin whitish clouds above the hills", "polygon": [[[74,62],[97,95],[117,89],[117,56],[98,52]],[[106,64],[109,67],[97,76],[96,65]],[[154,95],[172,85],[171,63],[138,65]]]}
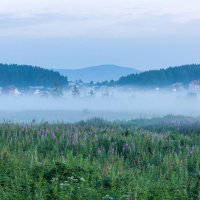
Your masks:
{"label": "pale blue sky with thin whitish clouds above the hills", "polygon": [[149,70],[199,55],[199,0],[0,1],[1,63]]}

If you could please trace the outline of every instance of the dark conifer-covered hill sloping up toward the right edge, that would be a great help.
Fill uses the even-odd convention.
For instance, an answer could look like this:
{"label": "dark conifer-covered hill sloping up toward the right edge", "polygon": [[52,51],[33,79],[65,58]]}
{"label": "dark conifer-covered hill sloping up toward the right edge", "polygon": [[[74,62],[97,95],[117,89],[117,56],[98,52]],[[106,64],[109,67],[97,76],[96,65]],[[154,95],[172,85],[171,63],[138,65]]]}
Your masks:
{"label": "dark conifer-covered hill sloping up toward the right edge", "polygon": [[181,82],[188,84],[200,79],[200,64],[169,67],[167,69],[151,70],[140,74],[131,74],[121,77],[117,85],[134,85],[141,87],[164,87]]}

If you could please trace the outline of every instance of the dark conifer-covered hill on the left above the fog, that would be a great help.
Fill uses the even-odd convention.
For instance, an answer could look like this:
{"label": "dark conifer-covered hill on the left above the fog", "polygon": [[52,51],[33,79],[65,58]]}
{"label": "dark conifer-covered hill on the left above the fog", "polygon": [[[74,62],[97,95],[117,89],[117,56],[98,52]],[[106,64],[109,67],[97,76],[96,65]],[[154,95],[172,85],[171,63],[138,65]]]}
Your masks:
{"label": "dark conifer-covered hill on the left above the fog", "polygon": [[0,86],[2,87],[9,85],[55,87],[67,83],[67,77],[52,70],[28,65],[0,64]]}

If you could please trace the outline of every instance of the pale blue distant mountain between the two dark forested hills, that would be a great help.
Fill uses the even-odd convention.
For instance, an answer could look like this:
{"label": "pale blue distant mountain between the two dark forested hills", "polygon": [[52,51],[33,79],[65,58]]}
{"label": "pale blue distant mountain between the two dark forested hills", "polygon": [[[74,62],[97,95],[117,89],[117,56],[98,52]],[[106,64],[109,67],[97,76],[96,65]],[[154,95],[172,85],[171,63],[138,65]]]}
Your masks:
{"label": "pale blue distant mountain between the two dark forested hills", "polygon": [[102,82],[106,80],[118,80],[121,76],[138,73],[139,71],[129,67],[116,65],[100,65],[82,69],[56,69],[61,75],[67,76],[70,81],[82,80]]}

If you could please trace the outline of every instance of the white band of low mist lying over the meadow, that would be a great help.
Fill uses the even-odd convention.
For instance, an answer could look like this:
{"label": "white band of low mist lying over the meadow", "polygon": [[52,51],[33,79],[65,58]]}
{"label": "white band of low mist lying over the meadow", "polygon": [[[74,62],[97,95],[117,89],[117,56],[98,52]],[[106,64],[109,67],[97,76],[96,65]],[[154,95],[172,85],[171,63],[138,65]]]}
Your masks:
{"label": "white band of low mist lying over the meadow", "polygon": [[107,95],[63,97],[1,96],[0,120],[20,122],[74,122],[93,117],[108,120],[162,117],[165,115],[199,116],[199,95],[188,91],[134,90],[112,88]]}

